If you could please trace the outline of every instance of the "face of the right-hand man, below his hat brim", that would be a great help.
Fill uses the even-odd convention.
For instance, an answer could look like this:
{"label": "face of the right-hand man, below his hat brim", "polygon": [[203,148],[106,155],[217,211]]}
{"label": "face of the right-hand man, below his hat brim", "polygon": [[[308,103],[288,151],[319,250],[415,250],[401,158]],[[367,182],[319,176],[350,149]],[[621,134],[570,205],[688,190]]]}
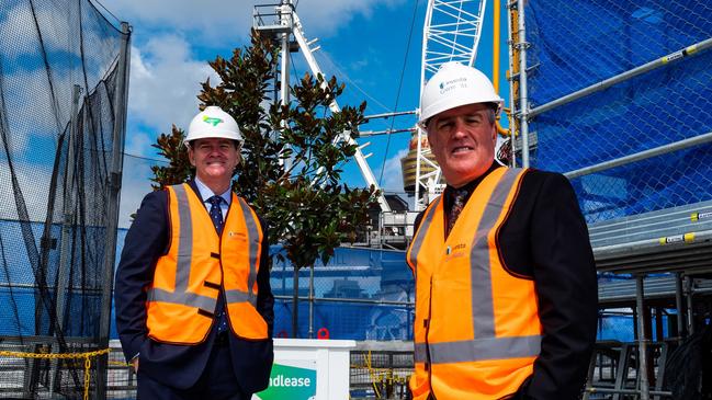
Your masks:
{"label": "face of the right-hand man, below his hat brim", "polygon": [[460,187],[482,175],[495,159],[497,128],[487,104],[444,111],[428,122],[428,141],[445,181]]}

